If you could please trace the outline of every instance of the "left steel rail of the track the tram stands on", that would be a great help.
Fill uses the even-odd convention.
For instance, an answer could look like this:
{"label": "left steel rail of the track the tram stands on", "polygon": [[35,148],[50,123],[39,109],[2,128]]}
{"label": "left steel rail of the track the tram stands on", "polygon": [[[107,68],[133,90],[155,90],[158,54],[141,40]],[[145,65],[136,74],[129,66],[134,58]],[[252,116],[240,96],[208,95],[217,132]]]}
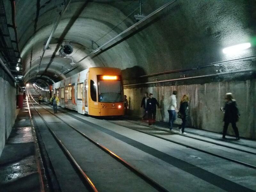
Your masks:
{"label": "left steel rail of the track the tram stands on", "polygon": [[178,142],[178,141],[166,139],[166,138],[164,138],[164,137],[160,137],[160,136],[157,136],[157,135],[155,135],[155,134],[151,134],[151,133],[147,133],[147,132],[140,131],[140,130],[137,130],[137,129],[133,129],[133,128],[128,127],[128,126],[125,126],[125,125],[120,125],[120,124],[117,124],[117,123],[114,123],[114,122],[110,122],[110,121],[107,121],[107,120],[104,120],[104,121],[109,122],[109,123],[112,123],[112,124],[116,124],[116,125],[119,125],[119,126],[122,126],[122,127],[126,127],[126,128],[128,128],[128,129],[132,129],[132,130],[134,130],[134,131],[138,131],[138,132],[141,132],[141,133],[145,133],[145,134],[147,134],[147,135],[151,135],[151,136],[154,136],[154,137],[157,137],[157,138],[166,140],[166,141],[170,141],[170,142],[172,142],[172,143],[175,143],[175,144],[178,144],[178,145],[182,145],[182,146],[184,146],[184,147],[188,147],[188,148],[191,148],[191,149],[195,149],[195,150],[197,150],[197,151],[200,151],[200,152],[203,152],[203,153],[212,155],[212,156],[216,156],[216,157],[219,157],[219,158],[222,158],[222,159],[225,159],[225,160],[228,160],[228,161],[237,163],[237,164],[241,164],[241,165],[244,165],[244,166],[246,166],[246,167],[250,167],[250,168],[256,169],[256,166],[251,165],[251,164],[247,164],[247,163],[244,163],[244,162],[235,160],[235,159],[231,159],[231,158],[224,157],[224,156],[221,156],[221,155],[218,155],[218,154],[215,154],[215,153],[211,153],[211,152],[205,151],[205,150],[203,150],[203,149],[199,149],[199,148],[196,148],[196,147],[192,147],[192,146],[190,146],[190,145],[186,145],[186,144],[184,144],[184,143],[180,143],[180,142]]}

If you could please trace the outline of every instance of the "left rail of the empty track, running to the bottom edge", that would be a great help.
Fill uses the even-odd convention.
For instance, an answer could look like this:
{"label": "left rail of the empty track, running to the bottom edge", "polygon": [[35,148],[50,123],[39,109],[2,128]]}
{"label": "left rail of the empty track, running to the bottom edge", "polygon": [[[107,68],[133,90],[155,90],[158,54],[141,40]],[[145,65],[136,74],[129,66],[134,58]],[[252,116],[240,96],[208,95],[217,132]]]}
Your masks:
{"label": "left rail of the empty track, running to the bottom edge", "polygon": [[[30,93],[29,93],[30,94]],[[32,95],[30,94],[31,98],[34,100],[34,98],[32,97]],[[69,152],[69,150],[65,147],[65,145],[62,143],[62,141],[60,140],[60,138],[56,135],[56,133],[49,127],[49,125],[47,124],[47,122],[44,120],[43,116],[38,112],[38,110],[35,108],[35,106],[33,105],[33,103],[31,102],[30,98],[29,101],[31,103],[31,105],[34,107],[34,109],[36,110],[36,112],[38,113],[38,115],[41,117],[41,119],[44,121],[45,125],[47,126],[48,130],[52,133],[52,136],[54,137],[54,139],[58,142],[58,144],[61,146],[61,148],[66,152],[66,154],[68,155],[69,159],[71,160],[71,162],[76,166],[76,168],[78,169],[79,173],[81,174],[81,176],[85,179],[86,184],[88,184],[89,188],[94,191],[94,192],[98,192],[97,188],[94,186],[94,184],[92,183],[92,181],[90,180],[90,178],[86,175],[86,173],[83,171],[83,169],[80,167],[80,165],[76,162],[75,158],[71,155],[71,153]],[[34,100],[35,101],[35,100]],[[36,102],[36,101],[35,101]],[[36,102],[37,103],[37,102]],[[38,104],[39,105],[39,104]]]}

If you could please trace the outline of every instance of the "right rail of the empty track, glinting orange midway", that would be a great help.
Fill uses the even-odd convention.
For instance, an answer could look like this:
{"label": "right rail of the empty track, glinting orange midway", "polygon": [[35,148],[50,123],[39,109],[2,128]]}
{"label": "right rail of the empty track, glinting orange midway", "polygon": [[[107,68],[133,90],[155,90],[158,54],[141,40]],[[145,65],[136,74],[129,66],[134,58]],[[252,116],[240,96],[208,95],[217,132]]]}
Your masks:
{"label": "right rail of the empty track, glinting orange midway", "polygon": [[[30,94],[31,96],[31,94]],[[32,96],[31,96],[32,97]],[[33,99],[33,98],[32,98]],[[34,99],[33,99],[34,100]],[[34,100],[35,101],[35,100]],[[36,102],[36,101],[35,101]],[[36,102],[37,103],[37,102]],[[38,103],[37,103],[38,104]],[[32,104],[33,105],[33,104]],[[44,108],[42,105],[38,104],[39,106],[41,106],[42,108]],[[112,152],[111,150],[109,150],[108,148],[106,148],[105,146],[99,144],[98,142],[94,141],[93,139],[91,139],[90,137],[88,137],[87,135],[85,135],[83,132],[77,130],[75,127],[73,127],[72,125],[68,124],[66,121],[64,121],[63,119],[61,119],[59,116],[53,114],[51,111],[49,111],[48,109],[44,108],[46,111],[48,111],[49,113],[51,113],[53,116],[56,116],[58,119],[60,119],[62,122],[64,122],[65,124],[67,124],[69,127],[71,127],[73,130],[75,130],[76,132],[78,132],[79,134],[81,134],[83,137],[85,137],[87,140],[91,141],[94,145],[96,145],[97,147],[99,147],[100,149],[102,149],[104,152],[108,153],[110,156],[112,156],[114,159],[116,159],[118,162],[120,162],[121,164],[123,164],[125,167],[127,167],[129,170],[131,170],[133,173],[135,173],[136,175],[138,175],[139,177],[141,177],[143,180],[145,180],[148,184],[150,184],[153,188],[156,188],[159,191],[164,191],[164,192],[168,192],[169,190],[167,190],[166,188],[164,188],[163,186],[161,186],[160,184],[158,184],[156,181],[150,179],[147,175],[145,175],[144,173],[142,173],[140,170],[138,170],[137,168],[135,168],[133,165],[129,164],[128,162],[126,162],[123,158],[121,158],[120,156],[116,155],[114,152]]]}

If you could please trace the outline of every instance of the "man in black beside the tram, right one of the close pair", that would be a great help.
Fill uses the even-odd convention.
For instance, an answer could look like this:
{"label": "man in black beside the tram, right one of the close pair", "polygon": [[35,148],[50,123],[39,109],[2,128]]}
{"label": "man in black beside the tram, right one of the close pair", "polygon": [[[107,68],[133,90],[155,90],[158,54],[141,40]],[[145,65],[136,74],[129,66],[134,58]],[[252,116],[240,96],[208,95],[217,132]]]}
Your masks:
{"label": "man in black beside the tram, right one of the close pair", "polygon": [[149,93],[147,100],[146,113],[148,114],[148,125],[151,126],[156,122],[156,105],[159,107],[159,103],[156,98],[153,97],[152,93]]}

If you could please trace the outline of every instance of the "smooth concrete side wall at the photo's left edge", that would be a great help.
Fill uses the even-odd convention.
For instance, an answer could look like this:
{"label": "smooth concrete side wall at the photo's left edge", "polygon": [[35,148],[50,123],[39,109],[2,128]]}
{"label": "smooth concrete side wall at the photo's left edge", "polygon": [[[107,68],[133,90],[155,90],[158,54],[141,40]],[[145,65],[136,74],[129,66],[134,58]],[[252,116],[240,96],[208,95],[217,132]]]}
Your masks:
{"label": "smooth concrete side wall at the photo's left edge", "polygon": [[16,88],[4,70],[0,70],[0,156],[16,119]]}

